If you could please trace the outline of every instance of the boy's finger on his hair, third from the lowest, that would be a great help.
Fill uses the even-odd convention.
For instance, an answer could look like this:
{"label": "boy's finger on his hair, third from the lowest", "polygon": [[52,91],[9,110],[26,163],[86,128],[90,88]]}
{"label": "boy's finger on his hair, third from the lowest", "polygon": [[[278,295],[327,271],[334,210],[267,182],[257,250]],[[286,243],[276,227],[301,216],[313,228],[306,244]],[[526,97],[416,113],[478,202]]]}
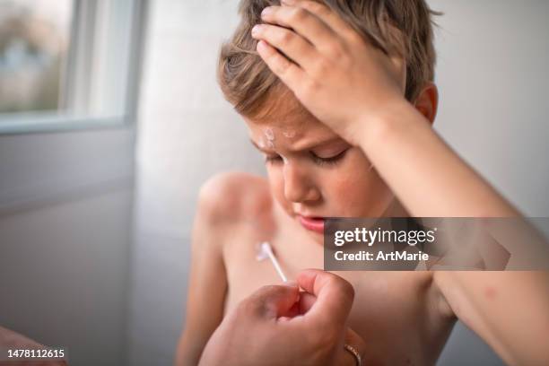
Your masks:
{"label": "boy's finger on his hair, third from the lowest", "polygon": [[325,22],[301,6],[268,6],[261,13],[261,19],[291,28],[318,49],[337,39]]}

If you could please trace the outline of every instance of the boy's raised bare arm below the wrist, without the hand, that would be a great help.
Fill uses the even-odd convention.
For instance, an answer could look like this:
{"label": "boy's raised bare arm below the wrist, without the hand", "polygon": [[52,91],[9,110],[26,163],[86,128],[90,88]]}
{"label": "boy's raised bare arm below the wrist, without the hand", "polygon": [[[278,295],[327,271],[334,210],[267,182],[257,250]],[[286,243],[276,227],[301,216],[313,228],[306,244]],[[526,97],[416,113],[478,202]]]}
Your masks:
{"label": "boy's raised bare arm below the wrist, without the hand", "polygon": [[[405,109],[399,113],[364,136],[363,148],[413,215],[518,215],[423,116]],[[549,272],[438,271],[433,278],[448,304],[442,309],[473,329],[507,364],[549,364]]]}

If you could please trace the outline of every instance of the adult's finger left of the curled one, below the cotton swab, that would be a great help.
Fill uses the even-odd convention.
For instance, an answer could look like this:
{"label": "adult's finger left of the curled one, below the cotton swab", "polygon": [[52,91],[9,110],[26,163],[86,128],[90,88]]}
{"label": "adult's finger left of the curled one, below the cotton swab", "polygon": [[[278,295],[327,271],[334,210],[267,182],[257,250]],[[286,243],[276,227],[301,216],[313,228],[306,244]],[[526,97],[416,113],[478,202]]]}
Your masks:
{"label": "adult's finger left of the curled one, below the cotton swab", "polygon": [[244,316],[274,319],[291,312],[299,299],[297,283],[267,285],[240,302]]}

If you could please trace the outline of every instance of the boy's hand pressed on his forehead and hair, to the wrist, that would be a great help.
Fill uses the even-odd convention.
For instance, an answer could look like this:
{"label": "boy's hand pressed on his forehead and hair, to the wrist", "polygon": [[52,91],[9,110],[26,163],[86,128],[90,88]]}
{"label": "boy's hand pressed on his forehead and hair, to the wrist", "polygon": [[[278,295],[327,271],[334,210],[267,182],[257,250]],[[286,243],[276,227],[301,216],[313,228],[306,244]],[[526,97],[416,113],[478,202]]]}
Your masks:
{"label": "boy's hand pressed on his forehead and hair, to the wrist", "polygon": [[364,123],[405,102],[403,59],[371,46],[323,4],[283,3],[267,7],[266,24],[252,30],[257,52],[316,118],[358,144]]}

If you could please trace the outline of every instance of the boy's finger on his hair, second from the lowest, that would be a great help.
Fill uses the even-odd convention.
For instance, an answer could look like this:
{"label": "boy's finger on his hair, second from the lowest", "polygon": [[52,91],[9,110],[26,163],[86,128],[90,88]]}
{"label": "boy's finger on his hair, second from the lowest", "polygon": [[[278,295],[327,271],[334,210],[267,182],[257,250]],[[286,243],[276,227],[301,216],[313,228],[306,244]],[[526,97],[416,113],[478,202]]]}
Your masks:
{"label": "boy's finger on his hair, second from the lowest", "polygon": [[252,29],[252,37],[266,40],[302,68],[308,69],[318,60],[317,50],[292,30],[270,24],[257,24]]}

